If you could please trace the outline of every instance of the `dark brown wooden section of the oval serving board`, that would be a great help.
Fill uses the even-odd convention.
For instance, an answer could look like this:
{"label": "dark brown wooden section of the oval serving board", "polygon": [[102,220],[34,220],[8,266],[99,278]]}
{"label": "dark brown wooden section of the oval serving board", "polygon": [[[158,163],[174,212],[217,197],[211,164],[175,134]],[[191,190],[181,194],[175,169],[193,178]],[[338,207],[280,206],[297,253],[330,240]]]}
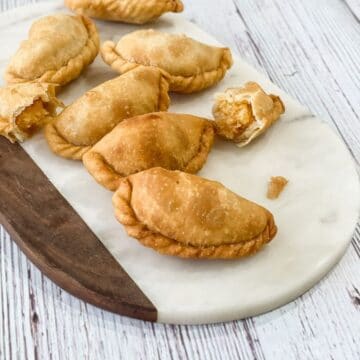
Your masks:
{"label": "dark brown wooden section of the oval serving board", "polygon": [[103,309],[156,321],[150,300],[25,151],[4,138],[0,222],[28,258],[63,289]]}

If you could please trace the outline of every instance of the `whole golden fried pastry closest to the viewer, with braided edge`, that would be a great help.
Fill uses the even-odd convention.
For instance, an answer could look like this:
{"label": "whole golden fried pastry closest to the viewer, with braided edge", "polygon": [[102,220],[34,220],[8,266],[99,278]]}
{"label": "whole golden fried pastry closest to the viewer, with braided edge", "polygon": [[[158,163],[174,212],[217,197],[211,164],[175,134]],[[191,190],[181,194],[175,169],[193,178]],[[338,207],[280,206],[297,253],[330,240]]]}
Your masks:
{"label": "whole golden fried pastry closest to the viewer, with braided edge", "polygon": [[152,168],[120,180],[116,218],[156,251],[184,258],[254,254],[276,234],[272,214],[216,181]]}

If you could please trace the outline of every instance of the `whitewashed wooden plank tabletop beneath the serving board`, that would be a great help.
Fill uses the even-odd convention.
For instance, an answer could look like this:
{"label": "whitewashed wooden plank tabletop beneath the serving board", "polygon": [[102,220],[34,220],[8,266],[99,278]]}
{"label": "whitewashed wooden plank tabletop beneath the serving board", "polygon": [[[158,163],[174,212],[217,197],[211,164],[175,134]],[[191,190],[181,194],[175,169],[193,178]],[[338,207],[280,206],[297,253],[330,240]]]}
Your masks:
{"label": "whitewashed wooden plank tabletop beneath the serving board", "polygon": [[[37,0],[1,0],[0,10]],[[360,0],[185,0],[196,22],[333,125],[360,164]],[[321,141],[321,139],[319,139]],[[301,298],[227,324],[99,310],[43,276],[0,227],[0,359],[360,359],[360,226]]]}

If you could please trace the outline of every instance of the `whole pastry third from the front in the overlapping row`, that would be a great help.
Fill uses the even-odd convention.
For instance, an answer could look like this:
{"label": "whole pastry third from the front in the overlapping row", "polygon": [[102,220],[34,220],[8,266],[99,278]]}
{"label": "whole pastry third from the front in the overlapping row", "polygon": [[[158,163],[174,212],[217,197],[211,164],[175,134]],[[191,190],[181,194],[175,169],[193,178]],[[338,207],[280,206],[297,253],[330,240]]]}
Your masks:
{"label": "whole pastry third from the front in the overlapping row", "polygon": [[161,72],[148,67],[106,81],[86,92],[46,126],[47,142],[56,154],[80,160],[120,121],[167,110],[168,87]]}

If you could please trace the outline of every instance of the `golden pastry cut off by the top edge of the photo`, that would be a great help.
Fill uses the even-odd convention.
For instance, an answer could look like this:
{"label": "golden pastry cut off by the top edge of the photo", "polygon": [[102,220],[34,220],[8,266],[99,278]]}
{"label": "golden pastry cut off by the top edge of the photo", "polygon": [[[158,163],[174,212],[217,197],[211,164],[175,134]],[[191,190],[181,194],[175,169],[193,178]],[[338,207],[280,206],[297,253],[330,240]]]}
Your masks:
{"label": "golden pastry cut off by the top edge of the photo", "polygon": [[145,24],[184,9],[180,0],[65,0],[65,5],[78,14],[131,24]]}

